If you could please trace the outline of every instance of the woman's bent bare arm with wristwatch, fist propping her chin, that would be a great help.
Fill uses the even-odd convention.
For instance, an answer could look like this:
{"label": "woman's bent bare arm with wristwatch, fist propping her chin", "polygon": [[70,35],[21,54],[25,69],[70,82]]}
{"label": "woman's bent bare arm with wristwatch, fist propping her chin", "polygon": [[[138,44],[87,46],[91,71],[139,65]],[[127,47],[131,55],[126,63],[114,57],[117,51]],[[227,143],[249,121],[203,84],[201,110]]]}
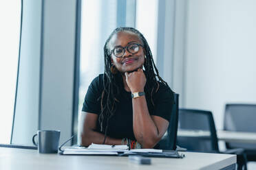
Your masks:
{"label": "woman's bent bare arm with wristwatch, fist propping her chin", "polygon": [[[142,69],[125,73],[131,93],[144,91],[146,77]],[[134,135],[143,148],[153,148],[167,131],[169,122],[162,117],[151,116],[145,96],[132,99]]]}

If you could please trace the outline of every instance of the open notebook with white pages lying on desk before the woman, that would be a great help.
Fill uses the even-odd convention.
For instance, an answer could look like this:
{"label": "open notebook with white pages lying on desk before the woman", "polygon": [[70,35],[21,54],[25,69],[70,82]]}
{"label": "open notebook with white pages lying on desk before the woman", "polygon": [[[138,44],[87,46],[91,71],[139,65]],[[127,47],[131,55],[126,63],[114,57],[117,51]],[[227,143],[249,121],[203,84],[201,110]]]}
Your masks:
{"label": "open notebook with white pages lying on desk before the woman", "polygon": [[130,149],[127,145],[98,145],[92,143],[89,147],[67,147],[63,155],[112,155],[129,156],[142,155],[149,157],[183,158],[177,151],[162,151],[162,149]]}

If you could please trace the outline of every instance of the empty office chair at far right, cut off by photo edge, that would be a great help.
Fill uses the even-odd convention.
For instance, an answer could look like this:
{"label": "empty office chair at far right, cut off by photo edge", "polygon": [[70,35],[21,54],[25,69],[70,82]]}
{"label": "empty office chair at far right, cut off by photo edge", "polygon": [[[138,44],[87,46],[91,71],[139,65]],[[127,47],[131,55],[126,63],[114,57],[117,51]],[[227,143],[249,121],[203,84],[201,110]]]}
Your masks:
{"label": "empty office chair at far right, cut off by photo edge", "polygon": [[[256,132],[256,104],[226,104],[224,130]],[[256,144],[226,143],[226,148],[243,148],[248,161],[256,161]]]}

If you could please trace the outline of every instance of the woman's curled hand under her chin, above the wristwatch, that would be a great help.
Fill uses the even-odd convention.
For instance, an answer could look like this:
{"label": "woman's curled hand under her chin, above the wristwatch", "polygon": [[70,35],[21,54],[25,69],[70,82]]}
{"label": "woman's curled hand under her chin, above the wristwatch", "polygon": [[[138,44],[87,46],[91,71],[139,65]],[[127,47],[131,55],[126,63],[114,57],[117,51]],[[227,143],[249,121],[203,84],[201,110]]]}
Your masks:
{"label": "woman's curled hand under her chin, above the wristwatch", "polygon": [[125,72],[125,77],[131,93],[144,91],[147,79],[142,69],[138,69],[137,71],[131,73]]}

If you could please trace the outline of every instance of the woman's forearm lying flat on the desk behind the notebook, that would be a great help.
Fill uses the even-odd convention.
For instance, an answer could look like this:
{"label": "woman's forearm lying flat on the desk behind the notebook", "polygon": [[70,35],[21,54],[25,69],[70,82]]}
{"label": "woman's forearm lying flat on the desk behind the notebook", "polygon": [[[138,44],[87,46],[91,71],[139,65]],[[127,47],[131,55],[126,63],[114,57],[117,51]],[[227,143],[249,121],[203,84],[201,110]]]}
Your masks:
{"label": "woman's forearm lying flat on the desk behind the notebook", "polygon": [[[81,145],[89,146],[92,143],[103,144],[105,135],[94,130],[86,130],[81,135]],[[106,137],[105,145],[121,145],[122,139]]]}

